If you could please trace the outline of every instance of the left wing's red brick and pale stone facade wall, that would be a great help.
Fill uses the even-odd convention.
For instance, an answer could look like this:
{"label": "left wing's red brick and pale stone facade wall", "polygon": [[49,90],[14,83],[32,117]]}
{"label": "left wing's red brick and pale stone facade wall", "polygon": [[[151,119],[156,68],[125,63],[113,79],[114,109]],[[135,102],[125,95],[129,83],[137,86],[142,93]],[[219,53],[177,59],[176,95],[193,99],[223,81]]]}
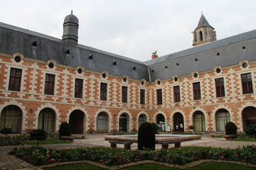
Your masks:
{"label": "left wing's red brick and pale stone facade wall", "polygon": [[[14,57],[21,57],[16,62]],[[50,69],[48,63],[55,66]],[[9,91],[11,68],[22,69],[21,90]],[[69,121],[70,113],[79,110],[85,115],[84,133],[95,132],[97,114],[104,111],[109,117],[109,132],[119,130],[119,116],[127,113],[129,130],[138,129],[139,115],[144,113],[149,120],[149,83],[142,85],[141,81],[123,77],[115,77],[107,72],[92,72],[78,68],[56,64],[54,61],[30,60],[22,54],[0,54],[0,111],[6,106],[14,105],[21,108],[23,114],[22,130],[38,128],[38,115],[43,108],[55,111],[55,130],[60,123]],[[44,94],[45,77],[55,74],[54,95]],[[107,77],[103,78],[105,73]],[[75,98],[75,78],[83,79],[82,98]],[[100,101],[100,83],[107,84],[107,101]],[[122,103],[122,86],[128,87],[127,103]],[[140,104],[140,89],[145,90],[145,104]]]}

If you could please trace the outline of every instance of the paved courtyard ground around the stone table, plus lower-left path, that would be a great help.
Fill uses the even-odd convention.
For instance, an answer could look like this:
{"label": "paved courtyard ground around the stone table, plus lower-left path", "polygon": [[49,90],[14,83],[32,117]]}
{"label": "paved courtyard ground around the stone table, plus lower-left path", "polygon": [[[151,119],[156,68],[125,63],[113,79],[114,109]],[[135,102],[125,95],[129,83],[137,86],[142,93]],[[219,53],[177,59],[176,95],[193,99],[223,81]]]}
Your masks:
{"label": "paved courtyard ground around the stone table, plus lower-left path", "polygon": [[[58,145],[41,145],[43,147],[55,148],[55,149],[65,149],[68,148],[78,148],[78,147],[110,147],[110,143],[104,140],[102,134],[97,135],[86,135],[84,140],[74,140],[70,144],[58,144]],[[198,147],[221,147],[235,149],[237,147],[242,147],[243,145],[256,145],[256,142],[235,142],[227,141],[225,138],[208,137],[206,135],[202,136],[201,140],[194,140],[188,142],[182,142],[181,147],[187,146],[198,146]],[[124,148],[124,145],[117,145],[119,148]],[[169,145],[169,147],[174,147],[174,145]],[[0,147],[0,169],[11,170],[11,169],[38,169],[35,166],[21,161],[21,159],[16,159],[14,156],[10,156],[10,152],[14,146],[11,147]],[[160,149],[161,145],[156,145],[156,149]],[[132,149],[137,149],[137,144],[132,145]]]}

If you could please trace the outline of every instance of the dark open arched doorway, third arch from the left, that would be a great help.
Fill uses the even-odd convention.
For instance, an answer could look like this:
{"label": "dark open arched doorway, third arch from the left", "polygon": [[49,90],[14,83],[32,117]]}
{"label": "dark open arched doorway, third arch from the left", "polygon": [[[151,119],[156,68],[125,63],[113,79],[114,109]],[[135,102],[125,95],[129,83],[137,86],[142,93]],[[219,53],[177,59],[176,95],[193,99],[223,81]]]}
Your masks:
{"label": "dark open arched doorway, third arch from the left", "polygon": [[83,123],[85,114],[80,110],[75,110],[70,114],[69,124],[72,134],[83,134]]}

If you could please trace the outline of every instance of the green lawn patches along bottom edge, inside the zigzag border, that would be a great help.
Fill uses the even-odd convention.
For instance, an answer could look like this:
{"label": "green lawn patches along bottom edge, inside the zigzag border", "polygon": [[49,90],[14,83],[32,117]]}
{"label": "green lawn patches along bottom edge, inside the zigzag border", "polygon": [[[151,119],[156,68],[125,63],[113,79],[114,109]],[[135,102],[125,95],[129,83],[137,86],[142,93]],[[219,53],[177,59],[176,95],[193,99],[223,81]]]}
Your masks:
{"label": "green lawn patches along bottom edge, inside the zigzag border", "polygon": [[[71,164],[71,165],[63,165],[63,166],[55,166],[52,168],[47,168],[46,170],[75,170],[75,169],[92,169],[97,170],[100,168],[97,168],[95,166],[90,166],[88,164]],[[167,167],[167,166],[161,166],[156,164],[143,164],[139,166],[131,166],[129,168],[126,168],[124,170],[178,170],[175,168]],[[206,164],[201,164],[199,166],[193,167],[190,170],[215,170],[215,169],[225,169],[225,170],[252,170],[255,168],[248,167],[248,166],[242,166],[242,165],[236,165],[236,164],[225,164],[220,162],[208,162]]]}

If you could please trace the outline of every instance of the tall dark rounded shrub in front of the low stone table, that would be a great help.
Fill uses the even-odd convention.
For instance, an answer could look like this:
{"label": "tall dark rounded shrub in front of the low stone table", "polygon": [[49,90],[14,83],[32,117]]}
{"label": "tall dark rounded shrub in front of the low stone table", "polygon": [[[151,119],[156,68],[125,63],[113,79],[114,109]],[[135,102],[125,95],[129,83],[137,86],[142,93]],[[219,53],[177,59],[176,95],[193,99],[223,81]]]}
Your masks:
{"label": "tall dark rounded shrub in front of the low stone table", "polygon": [[139,126],[138,134],[138,149],[143,150],[144,148],[155,149],[156,136],[151,123],[142,123]]}

